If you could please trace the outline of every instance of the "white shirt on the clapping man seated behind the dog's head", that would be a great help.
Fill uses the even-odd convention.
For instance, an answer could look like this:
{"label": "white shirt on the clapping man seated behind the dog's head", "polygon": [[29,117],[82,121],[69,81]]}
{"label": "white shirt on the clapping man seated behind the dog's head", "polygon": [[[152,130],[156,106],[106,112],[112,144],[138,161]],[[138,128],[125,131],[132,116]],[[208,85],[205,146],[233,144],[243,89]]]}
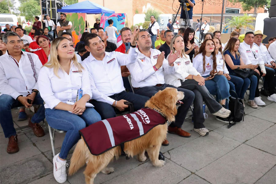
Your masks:
{"label": "white shirt on the clapping man seated behind the dog's head", "polygon": [[137,58],[136,62],[127,65],[131,75],[131,84],[133,87],[155,86],[156,84],[164,84],[164,72],[168,74],[174,73],[174,67],[169,66],[167,59],[163,60],[162,67],[154,71],[153,65],[157,63],[157,58],[161,53],[157,49],[150,48],[151,57],[142,54],[136,48]]}

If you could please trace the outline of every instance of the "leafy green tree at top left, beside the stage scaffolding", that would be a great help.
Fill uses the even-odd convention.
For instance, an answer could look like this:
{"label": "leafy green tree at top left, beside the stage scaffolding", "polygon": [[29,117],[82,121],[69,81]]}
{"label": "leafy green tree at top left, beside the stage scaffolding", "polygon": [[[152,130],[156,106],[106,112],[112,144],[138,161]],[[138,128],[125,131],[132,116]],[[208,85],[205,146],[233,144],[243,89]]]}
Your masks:
{"label": "leafy green tree at top left, beside the stage scaffolding", "polygon": [[34,16],[40,15],[40,3],[37,0],[21,0],[21,5],[19,6],[19,11],[21,16],[25,16],[26,20],[33,21]]}

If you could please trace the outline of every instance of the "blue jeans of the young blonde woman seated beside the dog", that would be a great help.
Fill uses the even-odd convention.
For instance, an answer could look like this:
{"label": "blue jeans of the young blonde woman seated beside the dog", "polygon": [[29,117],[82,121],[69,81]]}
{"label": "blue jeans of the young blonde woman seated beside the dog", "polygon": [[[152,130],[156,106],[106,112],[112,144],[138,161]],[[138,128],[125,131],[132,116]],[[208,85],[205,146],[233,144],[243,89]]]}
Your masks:
{"label": "blue jeans of the young blonde woman seated beside the dog", "polygon": [[82,115],[76,115],[66,110],[45,109],[48,124],[55,129],[67,131],[61,146],[59,157],[66,159],[70,149],[80,139],[79,130],[101,121],[100,114],[91,107],[85,109]]}

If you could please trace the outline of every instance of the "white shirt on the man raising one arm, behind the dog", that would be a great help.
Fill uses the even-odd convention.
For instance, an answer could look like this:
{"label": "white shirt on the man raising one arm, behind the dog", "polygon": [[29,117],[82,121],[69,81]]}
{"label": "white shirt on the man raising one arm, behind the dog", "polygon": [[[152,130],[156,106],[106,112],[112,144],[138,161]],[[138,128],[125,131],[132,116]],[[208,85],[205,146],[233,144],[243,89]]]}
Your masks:
{"label": "white shirt on the man raising one arm, behind the dog", "polygon": [[121,52],[105,52],[102,61],[88,56],[82,61],[82,65],[89,72],[93,99],[110,105],[115,101],[109,96],[121,93],[125,90],[121,75],[121,66],[134,63],[137,57],[135,48],[130,48],[128,54]]}

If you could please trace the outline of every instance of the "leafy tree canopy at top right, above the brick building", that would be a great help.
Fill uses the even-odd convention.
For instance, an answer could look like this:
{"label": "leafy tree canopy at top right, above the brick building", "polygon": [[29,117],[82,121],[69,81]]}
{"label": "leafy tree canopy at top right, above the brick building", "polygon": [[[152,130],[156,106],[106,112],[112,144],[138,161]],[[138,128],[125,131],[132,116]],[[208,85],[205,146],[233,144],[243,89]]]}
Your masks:
{"label": "leafy tree canopy at top right, above the brick building", "polygon": [[232,3],[240,2],[242,8],[245,11],[250,11],[254,8],[254,13],[257,13],[258,8],[266,7],[269,10],[269,5],[271,0],[229,0]]}

